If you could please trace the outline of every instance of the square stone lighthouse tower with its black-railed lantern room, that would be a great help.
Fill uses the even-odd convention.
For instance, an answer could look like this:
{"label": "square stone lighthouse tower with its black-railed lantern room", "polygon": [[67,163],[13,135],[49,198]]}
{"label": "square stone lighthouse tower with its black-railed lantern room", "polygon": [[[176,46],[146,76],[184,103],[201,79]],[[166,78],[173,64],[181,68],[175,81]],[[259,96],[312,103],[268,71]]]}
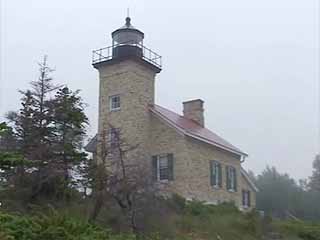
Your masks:
{"label": "square stone lighthouse tower with its black-railed lantern room", "polygon": [[120,131],[127,144],[136,146],[133,158],[150,159],[148,109],[154,104],[161,57],[143,45],[144,33],[131,25],[129,17],[111,35],[111,46],[93,51],[100,82],[98,142],[102,136],[112,141]]}

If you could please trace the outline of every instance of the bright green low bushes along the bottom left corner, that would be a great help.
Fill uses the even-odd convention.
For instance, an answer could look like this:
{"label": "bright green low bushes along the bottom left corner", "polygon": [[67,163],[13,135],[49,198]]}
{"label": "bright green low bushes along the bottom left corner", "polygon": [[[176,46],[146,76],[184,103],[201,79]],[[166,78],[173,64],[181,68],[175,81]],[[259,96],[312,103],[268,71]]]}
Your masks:
{"label": "bright green low bushes along the bottom left corner", "polygon": [[[109,229],[56,212],[33,217],[0,214],[1,239],[14,240],[131,240],[132,235],[113,235]],[[0,235],[1,236],[1,235]]]}

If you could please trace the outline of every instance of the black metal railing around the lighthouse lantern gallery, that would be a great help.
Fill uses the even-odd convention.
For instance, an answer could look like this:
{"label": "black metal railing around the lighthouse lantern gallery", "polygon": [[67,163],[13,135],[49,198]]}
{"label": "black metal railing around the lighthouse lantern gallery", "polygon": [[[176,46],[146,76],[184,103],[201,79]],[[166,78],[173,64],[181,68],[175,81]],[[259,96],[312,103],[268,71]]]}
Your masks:
{"label": "black metal railing around the lighthouse lantern gallery", "polygon": [[92,51],[92,64],[96,64],[96,63],[100,63],[100,62],[104,62],[104,61],[116,58],[117,56],[115,55],[115,49],[117,47],[123,47],[123,46],[140,48],[142,50],[142,56],[140,56],[140,57],[142,57],[142,59],[155,65],[158,68],[161,68],[162,60],[161,60],[160,55],[158,55],[157,53],[155,53],[151,49],[143,46],[140,43],[133,43],[133,42],[120,43],[117,45],[93,50]]}

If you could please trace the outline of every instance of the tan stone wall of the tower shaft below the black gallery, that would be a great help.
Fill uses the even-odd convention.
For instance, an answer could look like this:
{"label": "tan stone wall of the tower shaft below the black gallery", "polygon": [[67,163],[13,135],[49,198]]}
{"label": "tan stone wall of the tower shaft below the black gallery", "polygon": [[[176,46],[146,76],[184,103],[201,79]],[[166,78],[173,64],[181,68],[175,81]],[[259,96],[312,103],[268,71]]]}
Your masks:
{"label": "tan stone wall of the tower shaft below the black gallery", "polygon": [[[99,68],[99,127],[98,142],[102,132],[118,128],[121,141],[134,147],[128,159],[146,161],[149,159],[150,113],[149,104],[154,103],[155,72],[133,60]],[[109,97],[120,96],[120,110],[110,111]],[[106,135],[106,134],[105,134]],[[97,148],[99,156],[99,148]],[[99,160],[99,158],[98,158]]]}

